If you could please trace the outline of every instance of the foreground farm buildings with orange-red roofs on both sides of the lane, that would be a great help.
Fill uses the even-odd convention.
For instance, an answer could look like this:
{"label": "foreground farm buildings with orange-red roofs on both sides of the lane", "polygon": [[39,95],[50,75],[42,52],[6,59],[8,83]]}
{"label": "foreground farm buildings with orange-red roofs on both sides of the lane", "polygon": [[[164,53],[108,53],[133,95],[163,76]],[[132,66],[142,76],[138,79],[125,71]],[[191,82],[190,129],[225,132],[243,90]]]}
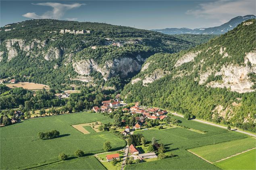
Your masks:
{"label": "foreground farm buildings with orange-red roofs on both sides of the lane", "polygon": [[[129,153],[131,156],[135,159],[143,160],[146,158],[156,158],[156,153],[155,152],[150,152],[150,153],[145,153],[145,154],[139,154],[139,150],[131,144],[129,146]],[[120,155],[119,154],[111,154],[111,155],[106,155],[106,160],[111,161],[113,159],[119,159]]]}

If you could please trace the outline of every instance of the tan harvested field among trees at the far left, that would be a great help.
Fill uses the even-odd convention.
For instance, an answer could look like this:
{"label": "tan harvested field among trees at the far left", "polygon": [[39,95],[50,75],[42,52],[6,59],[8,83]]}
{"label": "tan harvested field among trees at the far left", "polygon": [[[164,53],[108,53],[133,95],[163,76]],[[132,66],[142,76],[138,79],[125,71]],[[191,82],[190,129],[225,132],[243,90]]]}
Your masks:
{"label": "tan harvested field among trees at the far left", "polygon": [[19,82],[15,84],[8,84],[6,86],[11,89],[17,88],[17,87],[22,87],[23,89],[28,89],[28,90],[42,90],[43,88],[50,89],[48,85],[29,83],[29,82]]}

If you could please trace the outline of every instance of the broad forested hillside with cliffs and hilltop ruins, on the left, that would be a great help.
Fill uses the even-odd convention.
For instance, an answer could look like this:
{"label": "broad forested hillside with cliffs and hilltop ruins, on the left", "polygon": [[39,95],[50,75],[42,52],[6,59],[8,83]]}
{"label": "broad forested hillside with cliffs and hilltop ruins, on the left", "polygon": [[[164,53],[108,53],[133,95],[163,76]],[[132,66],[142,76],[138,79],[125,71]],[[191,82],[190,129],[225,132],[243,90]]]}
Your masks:
{"label": "broad forested hillside with cliffs and hilltop ruins, on the left", "polygon": [[[138,73],[149,56],[195,45],[154,31],[93,22],[27,20],[0,29],[0,79],[54,89],[87,83],[104,86],[108,80],[108,85],[118,84]],[[87,32],[60,33],[61,29]]]}

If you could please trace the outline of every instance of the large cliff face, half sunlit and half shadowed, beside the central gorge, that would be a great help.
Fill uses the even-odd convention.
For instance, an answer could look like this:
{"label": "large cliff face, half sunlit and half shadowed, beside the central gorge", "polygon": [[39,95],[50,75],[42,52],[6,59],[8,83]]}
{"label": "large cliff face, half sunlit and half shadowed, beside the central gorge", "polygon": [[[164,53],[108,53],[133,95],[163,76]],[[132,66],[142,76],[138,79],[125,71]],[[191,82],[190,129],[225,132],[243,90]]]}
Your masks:
{"label": "large cliff face, half sunlit and half shadowed, beside the central gorge", "polygon": [[114,59],[113,61],[106,61],[105,64],[100,67],[93,59],[81,60],[73,62],[73,68],[79,75],[89,75],[93,70],[102,74],[104,80],[108,80],[110,77],[120,74],[121,77],[127,77],[129,73],[139,71],[143,61],[139,56],[138,59],[132,59],[129,57],[123,57]]}

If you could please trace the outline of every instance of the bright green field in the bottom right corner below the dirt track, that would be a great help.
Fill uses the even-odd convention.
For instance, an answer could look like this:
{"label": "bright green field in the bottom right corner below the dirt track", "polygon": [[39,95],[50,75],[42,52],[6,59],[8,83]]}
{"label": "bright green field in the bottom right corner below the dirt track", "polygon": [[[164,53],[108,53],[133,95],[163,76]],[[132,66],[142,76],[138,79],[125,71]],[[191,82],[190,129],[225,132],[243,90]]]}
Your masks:
{"label": "bright green field in the bottom right corner below the dirt track", "polygon": [[256,150],[251,150],[243,154],[231,157],[227,160],[217,162],[214,165],[223,170],[255,170]]}

